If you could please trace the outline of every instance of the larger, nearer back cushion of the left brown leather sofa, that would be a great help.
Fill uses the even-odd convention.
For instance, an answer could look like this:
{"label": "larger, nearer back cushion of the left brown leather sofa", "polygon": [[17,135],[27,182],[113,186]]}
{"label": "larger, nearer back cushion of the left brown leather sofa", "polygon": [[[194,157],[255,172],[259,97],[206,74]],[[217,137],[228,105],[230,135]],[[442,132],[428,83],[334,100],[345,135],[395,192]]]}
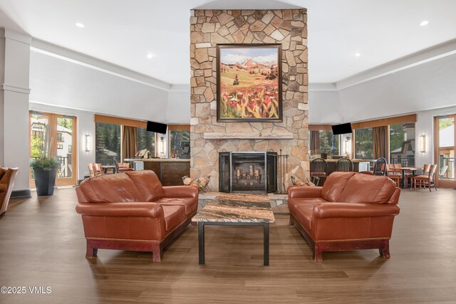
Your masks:
{"label": "larger, nearer back cushion of the left brown leather sofa", "polygon": [[125,174],[105,174],[85,179],[79,189],[91,203],[143,201],[133,181]]}

